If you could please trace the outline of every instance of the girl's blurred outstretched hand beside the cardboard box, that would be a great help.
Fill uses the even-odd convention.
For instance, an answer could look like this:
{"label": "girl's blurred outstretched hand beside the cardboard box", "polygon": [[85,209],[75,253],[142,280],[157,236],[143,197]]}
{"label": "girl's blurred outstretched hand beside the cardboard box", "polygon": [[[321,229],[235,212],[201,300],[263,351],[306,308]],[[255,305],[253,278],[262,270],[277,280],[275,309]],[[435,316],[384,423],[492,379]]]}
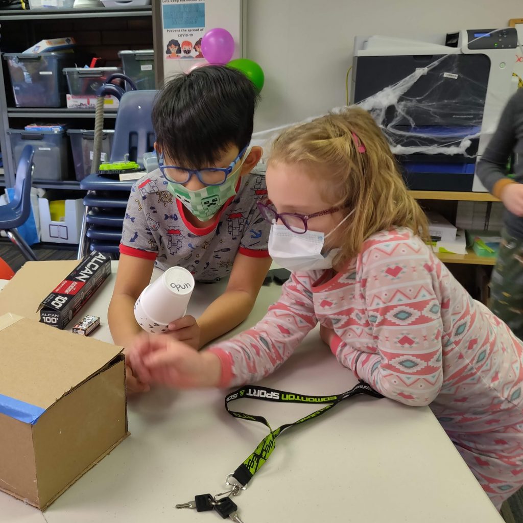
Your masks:
{"label": "girl's blurred outstretched hand beside the cardboard box", "polygon": [[218,356],[199,353],[170,336],[143,335],[129,351],[131,368],[143,383],[178,389],[217,386],[221,376]]}

